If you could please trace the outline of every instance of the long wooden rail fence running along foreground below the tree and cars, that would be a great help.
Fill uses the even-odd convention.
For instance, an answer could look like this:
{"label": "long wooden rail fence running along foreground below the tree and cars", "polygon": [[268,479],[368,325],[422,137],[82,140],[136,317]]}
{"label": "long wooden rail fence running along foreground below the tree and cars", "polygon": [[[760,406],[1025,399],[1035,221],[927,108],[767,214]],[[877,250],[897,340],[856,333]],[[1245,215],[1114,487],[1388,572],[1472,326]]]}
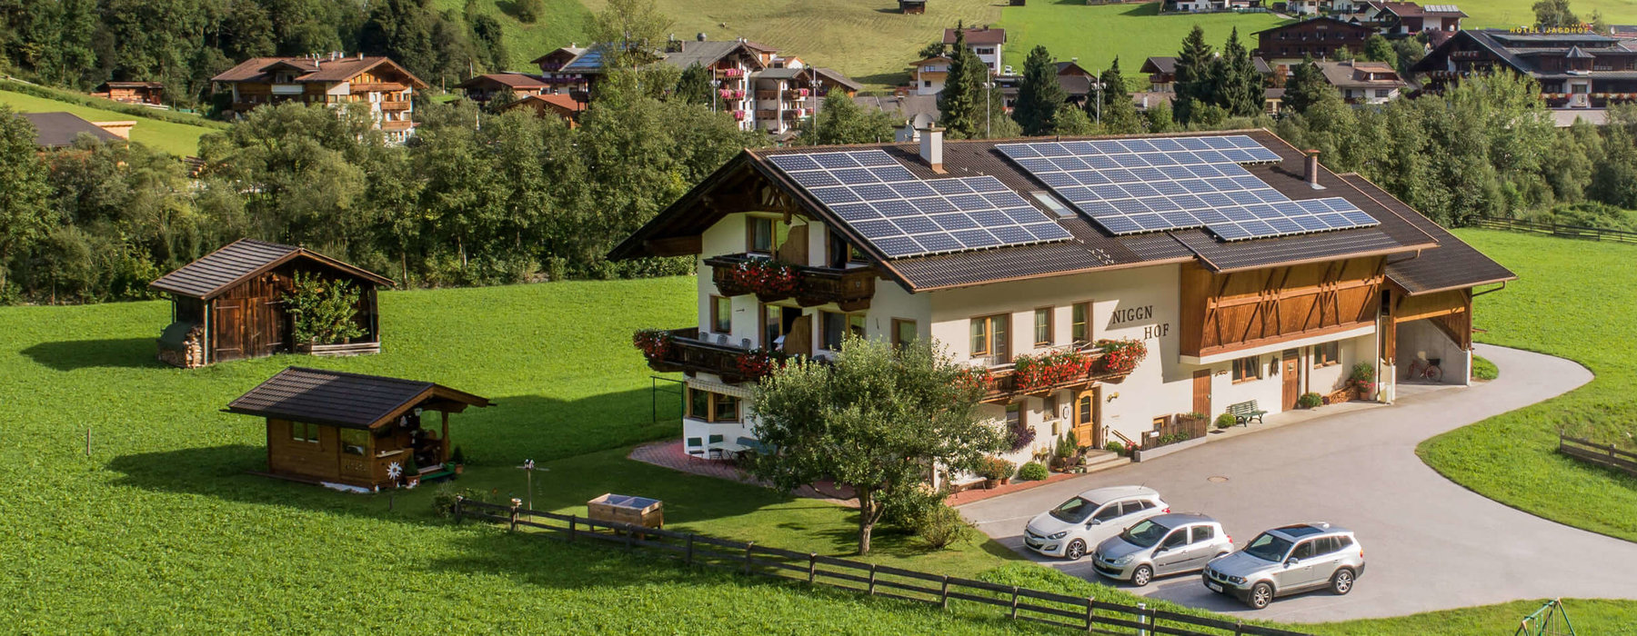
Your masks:
{"label": "long wooden rail fence running along foreground below the tree and cars", "polygon": [[[1026,620],[1097,634],[1175,634],[1175,636],[1301,636],[1242,621],[1192,616],[1175,611],[1105,603],[1094,597],[1071,597],[1017,585],[927,574],[758,546],[755,541],[728,541],[714,536],[643,528],[629,523],[601,522],[576,515],[524,510],[455,499],[455,520],[478,518],[504,523],[511,530],[535,528],[537,533],[570,543],[601,543],[634,554],[670,558],[686,566],[724,569],[743,576],[766,576],[830,585],[858,593],[899,598],[949,608],[949,602],[977,603],[1012,620]],[[1200,631],[1210,629],[1210,631]]]}

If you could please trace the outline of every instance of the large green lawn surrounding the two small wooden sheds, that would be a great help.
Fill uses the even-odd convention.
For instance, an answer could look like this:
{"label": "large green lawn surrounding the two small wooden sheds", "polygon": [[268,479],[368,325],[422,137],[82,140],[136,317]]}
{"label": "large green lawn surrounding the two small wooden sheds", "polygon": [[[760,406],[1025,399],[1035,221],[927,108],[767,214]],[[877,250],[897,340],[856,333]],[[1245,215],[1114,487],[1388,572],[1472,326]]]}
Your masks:
{"label": "large green lawn surrounding the two small wooden sheds", "polygon": [[[630,445],[678,427],[674,397],[661,396],[653,422],[650,371],[630,350],[630,332],[691,322],[694,289],[691,278],[670,278],[386,293],[381,355],[195,371],[152,360],[169,319],[164,302],[0,307],[0,435],[10,458],[0,461],[10,566],[0,613],[21,633],[1038,629],[971,608],[945,615],[455,526],[431,513],[434,487],[352,495],[255,477],[246,471],[265,466],[262,422],[218,410],[288,365],[432,379],[498,401],[452,419],[470,461],[462,487],[524,497],[514,466],[532,458],[547,468],[535,474],[537,508],[583,513],[602,492],[643,494],[666,502],[673,528],[848,554],[846,508],[624,458]],[[925,553],[884,533],[871,561],[1134,600],[992,541]],[[1526,605],[1380,625],[1493,633]],[[1576,623],[1616,626],[1634,620],[1637,603],[1570,607]],[[1375,625],[1313,629],[1382,633]]]}

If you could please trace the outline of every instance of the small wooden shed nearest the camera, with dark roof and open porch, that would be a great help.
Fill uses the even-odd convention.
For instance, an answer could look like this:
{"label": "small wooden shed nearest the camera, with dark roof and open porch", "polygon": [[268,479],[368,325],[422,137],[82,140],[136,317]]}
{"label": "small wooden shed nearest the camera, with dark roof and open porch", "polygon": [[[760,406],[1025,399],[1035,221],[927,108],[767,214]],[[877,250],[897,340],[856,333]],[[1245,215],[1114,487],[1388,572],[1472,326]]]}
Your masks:
{"label": "small wooden shed nearest the camera, with dark roof and open porch", "polygon": [[267,476],[375,490],[449,474],[449,414],[491,404],[426,381],[291,366],[224,410],[267,419]]}

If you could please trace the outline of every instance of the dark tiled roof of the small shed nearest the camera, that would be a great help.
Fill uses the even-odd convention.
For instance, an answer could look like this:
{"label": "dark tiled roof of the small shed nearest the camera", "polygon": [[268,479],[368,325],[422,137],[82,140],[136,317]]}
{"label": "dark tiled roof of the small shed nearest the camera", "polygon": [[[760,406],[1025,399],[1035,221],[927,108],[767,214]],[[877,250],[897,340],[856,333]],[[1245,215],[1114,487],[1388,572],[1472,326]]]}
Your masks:
{"label": "dark tiled roof of the small shed nearest the camera", "polygon": [[489,401],[439,384],[291,366],[228,404],[228,412],[370,428],[437,394],[468,405]]}

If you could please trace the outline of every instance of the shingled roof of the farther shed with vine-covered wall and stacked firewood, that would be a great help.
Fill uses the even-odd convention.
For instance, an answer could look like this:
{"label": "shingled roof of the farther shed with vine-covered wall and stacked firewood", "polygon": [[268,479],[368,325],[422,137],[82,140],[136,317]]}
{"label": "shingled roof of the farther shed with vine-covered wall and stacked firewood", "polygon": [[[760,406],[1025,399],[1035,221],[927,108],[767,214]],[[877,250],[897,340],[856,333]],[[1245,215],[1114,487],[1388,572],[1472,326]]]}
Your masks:
{"label": "shingled roof of the farther shed with vine-covered wall and stacked firewood", "polygon": [[149,283],[147,286],[151,289],[177,296],[208,299],[228,291],[236,283],[249,276],[255,276],[283,262],[300,257],[316,260],[336,270],[368,280],[375,284],[393,284],[393,281],[386,276],[342,263],[304,247],[282,245],[255,239],[239,239],[216,252],[200,257],[200,260],[177,268],[172,273],[159,276],[159,280]]}

